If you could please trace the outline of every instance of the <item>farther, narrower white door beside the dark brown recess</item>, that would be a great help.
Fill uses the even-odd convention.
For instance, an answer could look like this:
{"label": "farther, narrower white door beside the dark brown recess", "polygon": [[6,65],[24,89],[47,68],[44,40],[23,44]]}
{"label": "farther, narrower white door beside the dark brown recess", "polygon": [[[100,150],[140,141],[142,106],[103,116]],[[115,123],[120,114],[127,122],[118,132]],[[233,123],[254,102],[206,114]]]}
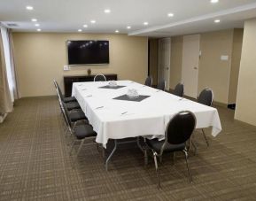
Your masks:
{"label": "farther, narrower white door beside the dark brown recess", "polygon": [[165,80],[166,89],[169,89],[171,63],[171,38],[159,39],[159,76],[158,82]]}

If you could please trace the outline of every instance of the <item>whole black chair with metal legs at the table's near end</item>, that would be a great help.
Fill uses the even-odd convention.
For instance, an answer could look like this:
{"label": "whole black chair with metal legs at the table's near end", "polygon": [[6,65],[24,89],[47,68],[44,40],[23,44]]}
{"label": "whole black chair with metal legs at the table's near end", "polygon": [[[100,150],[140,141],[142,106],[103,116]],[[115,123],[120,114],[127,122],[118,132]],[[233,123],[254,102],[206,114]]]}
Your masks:
{"label": "whole black chair with metal legs at the table's near end", "polygon": [[[146,139],[147,146],[153,153],[153,158],[156,167],[156,174],[158,177],[158,187],[160,188],[160,179],[158,172],[158,160],[161,158],[163,152],[175,152],[182,151],[186,158],[186,164],[190,182],[192,177],[190,175],[190,169],[188,165],[188,149],[186,142],[190,140],[190,135],[193,133],[197,124],[195,115],[190,111],[182,111],[175,114],[175,116],[169,121],[166,129],[165,140],[159,141],[158,139]],[[145,149],[145,161],[147,161],[147,150]]]}

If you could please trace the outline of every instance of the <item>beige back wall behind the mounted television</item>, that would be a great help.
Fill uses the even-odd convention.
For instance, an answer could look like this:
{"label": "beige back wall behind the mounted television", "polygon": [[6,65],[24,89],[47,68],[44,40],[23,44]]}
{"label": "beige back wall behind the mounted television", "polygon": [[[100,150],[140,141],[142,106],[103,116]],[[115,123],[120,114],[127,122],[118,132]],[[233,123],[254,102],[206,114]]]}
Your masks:
{"label": "beige back wall behind the mounted television", "polygon": [[[67,64],[66,40],[109,40],[110,64],[107,66],[72,66]],[[147,76],[147,38],[128,35],[13,33],[14,54],[22,97],[56,94],[52,80],[63,88],[63,75],[117,73],[119,80],[144,82]]]}

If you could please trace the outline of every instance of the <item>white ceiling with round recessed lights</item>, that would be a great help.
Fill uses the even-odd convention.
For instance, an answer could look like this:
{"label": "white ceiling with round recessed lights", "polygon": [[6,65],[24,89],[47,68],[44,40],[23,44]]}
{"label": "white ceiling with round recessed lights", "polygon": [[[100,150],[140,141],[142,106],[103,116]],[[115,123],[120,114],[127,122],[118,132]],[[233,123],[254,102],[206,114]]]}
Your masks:
{"label": "white ceiling with round recessed lights", "polygon": [[[33,11],[26,6],[32,5]],[[111,13],[105,13],[110,9]],[[174,17],[167,17],[173,12]],[[114,33],[146,36],[185,35],[243,27],[256,17],[256,0],[0,0],[0,21],[14,31]],[[90,20],[97,22],[91,24]],[[218,24],[214,19],[221,19]],[[144,26],[144,21],[149,23]],[[87,24],[84,28],[82,25]],[[127,29],[131,26],[131,29]]]}

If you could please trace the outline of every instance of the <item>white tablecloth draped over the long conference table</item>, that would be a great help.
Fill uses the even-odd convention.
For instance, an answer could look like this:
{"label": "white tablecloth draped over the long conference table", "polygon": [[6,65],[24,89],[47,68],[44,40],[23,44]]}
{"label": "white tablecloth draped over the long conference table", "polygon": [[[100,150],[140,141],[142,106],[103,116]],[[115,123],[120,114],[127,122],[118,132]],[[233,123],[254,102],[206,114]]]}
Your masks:
{"label": "white tablecloth draped over the long conference table", "polygon": [[[164,138],[168,121],[176,112],[189,110],[197,118],[196,128],[213,127],[212,135],[221,132],[218,111],[204,104],[176,97],[164,91],[146,87],[134,81],[117,81],[120,89],[99,89],[108,81],[73,83],[72,95],[97,132],[97,143],[104,146],[108,139],[151,135]],[[141,102],[114,100],[125,95],[128,89],[137,89],[140,95],[148,95]],[[103,107],[102,107],[103,106]],[[101,108],[98,108],[101,107]],[[122,114],[123,112],[126,112]]]}

